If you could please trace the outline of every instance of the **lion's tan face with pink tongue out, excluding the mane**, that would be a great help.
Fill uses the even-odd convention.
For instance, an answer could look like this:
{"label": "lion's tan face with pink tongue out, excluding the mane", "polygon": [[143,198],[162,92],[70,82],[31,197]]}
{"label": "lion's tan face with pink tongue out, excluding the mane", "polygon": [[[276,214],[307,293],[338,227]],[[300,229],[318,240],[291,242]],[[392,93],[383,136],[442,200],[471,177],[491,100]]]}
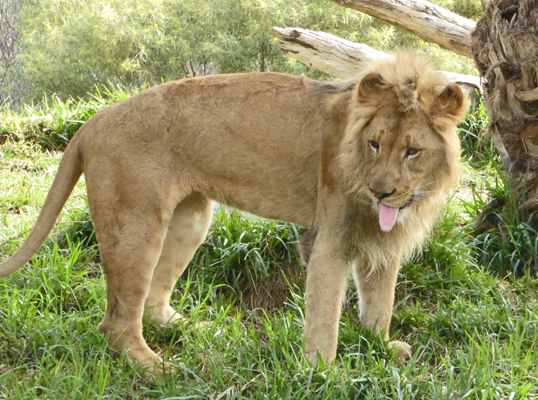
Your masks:
{"label": "lion's tan face with pink tongue out, excluding the mane", "polygon": [[[390,231],[401,210],[428,197],[435,174],[447,168],[443,138],[420,113],[383,110],[361,132],[364,193]],[[402,214],[402,216],[405,214]]]}

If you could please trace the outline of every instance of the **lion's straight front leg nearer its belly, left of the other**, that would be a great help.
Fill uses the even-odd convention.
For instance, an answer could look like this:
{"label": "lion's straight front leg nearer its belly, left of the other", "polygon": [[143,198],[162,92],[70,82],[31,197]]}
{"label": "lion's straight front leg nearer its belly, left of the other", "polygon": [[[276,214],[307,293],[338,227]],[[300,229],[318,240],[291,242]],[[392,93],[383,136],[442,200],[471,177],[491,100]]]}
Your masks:
{"label": "lion's straight front leg nearer its belly, left of the other", "polygon": [[318,351],[326,362],[336,356],[338,322],[349,279],[350,263],[329,242],[318,236],[307,267],[304,337],[305,353],[313,365]]}

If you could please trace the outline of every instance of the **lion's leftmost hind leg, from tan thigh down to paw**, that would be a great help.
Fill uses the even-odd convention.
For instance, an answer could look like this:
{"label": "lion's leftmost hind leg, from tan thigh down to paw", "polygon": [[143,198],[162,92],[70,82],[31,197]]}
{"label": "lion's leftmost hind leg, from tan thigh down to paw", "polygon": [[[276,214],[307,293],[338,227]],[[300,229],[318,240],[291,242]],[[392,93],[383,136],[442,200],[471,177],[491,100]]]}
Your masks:
{"label": "lion's leftmost hind leg, from tan thigh down to paw", "polygon": [[87,183],[107,286],[107,308],[99,330],[109,335],[114,351],[126,349],[130,358],[160,373],[162,359],[142,336],[142,316],[177,202],[171,195],[159,195],[164,190],[148,181],[132,190],[106,179],[100,180],[100,186],[97,180]]}

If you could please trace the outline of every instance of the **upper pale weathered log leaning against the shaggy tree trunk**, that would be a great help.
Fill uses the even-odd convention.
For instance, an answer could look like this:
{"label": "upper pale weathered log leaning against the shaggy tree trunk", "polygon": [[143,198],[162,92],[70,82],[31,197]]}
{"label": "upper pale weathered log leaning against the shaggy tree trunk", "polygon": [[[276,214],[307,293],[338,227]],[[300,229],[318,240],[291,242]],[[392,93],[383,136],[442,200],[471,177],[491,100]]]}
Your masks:
{"label": "upper pale weathered log leaning against the shaggy tree trunk", "polygon": [[426,42],[472,57],[476,23],[424,0],[330,0],[411,32]]}

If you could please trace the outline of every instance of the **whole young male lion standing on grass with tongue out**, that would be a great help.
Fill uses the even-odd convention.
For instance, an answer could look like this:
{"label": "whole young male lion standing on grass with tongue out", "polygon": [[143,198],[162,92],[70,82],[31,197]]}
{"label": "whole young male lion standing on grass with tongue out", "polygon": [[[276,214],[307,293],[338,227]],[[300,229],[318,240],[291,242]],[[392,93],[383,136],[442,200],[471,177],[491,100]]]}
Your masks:
{"label": "whole young male lion standing on grass with tongue out", "polygon": [[155,86],[75,135],[35,227],[0,277],[39,249],[84,173],[108,291],[99,329],[113,349],[127,347],[158,372],[142,315],[180,319],[170,294],[216,200],[310,229],[301,246],[305,353],[330,362],[350,271],[362,323],[389,338],[400,262],[458,179],[456,124],[467,108],[457,85],[409,54],[373,62],[343,84],[247,73]]}

